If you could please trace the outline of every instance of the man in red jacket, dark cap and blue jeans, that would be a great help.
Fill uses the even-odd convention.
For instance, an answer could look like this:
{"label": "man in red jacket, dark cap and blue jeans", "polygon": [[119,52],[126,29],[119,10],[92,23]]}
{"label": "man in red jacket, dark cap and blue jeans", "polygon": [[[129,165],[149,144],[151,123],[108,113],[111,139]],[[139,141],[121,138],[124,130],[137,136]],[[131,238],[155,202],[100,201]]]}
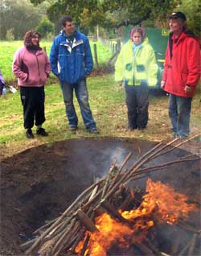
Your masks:
{"label": "man in red jacket, dark cap and blue jeans", "polygon": [[170,93],[169,115],[174,138],[187,138],[191,101],[200,75],[199,39],[187,31],[187,19],[182,12],[170,14],[169,20],[170,37],[161,87]]}

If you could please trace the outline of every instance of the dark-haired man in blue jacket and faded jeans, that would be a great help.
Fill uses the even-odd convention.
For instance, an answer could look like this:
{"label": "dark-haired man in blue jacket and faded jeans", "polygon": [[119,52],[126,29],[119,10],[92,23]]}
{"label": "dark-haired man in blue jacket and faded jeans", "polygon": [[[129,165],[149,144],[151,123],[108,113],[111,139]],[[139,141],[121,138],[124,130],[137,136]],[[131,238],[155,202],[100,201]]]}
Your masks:
{"label": "dark-haired man in blue jacket and faded jeans", "polygon": [[51,46],[51,71],[59,77],[66,106],[70,130],[76,130],[78,118],[73,104],[73,90],[80,105],[81,115],[88,132],[97,134],[96,122],[88,104],[86,76],[93,67],[92,52],[86,35],[76,31],[72,17],[66,15],[61,21],[63,30]]}

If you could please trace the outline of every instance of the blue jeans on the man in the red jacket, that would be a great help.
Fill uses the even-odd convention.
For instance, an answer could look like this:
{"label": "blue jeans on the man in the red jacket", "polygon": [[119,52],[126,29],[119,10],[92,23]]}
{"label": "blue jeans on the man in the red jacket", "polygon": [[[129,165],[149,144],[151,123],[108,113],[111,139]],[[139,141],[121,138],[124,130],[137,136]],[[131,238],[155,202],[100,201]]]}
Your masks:
{"label": "blue jeans on the man in the red jacket", "polygon": [[191,97],[179,97],[170,93],[169,116],[172,131],[181,137],[187,137],[190,132]]}

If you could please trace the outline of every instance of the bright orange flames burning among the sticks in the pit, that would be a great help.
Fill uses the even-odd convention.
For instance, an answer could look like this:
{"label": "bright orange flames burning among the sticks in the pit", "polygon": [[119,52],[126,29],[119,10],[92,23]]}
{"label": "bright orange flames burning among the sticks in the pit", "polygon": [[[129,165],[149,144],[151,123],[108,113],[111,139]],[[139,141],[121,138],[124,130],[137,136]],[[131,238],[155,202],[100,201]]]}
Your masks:
{"label": "bright orange flames burning among the sticks in the pit", "polygon": [[[90,235],[87,250],[84,255],[107,256],[112,246],[119,249],[129,248],[131,244],[140,243],[146,237],[148,229],[156,223],[173,225],[178,219],[185,219],[189,213],[196,211],[195,204],[187,204],[187,196],[175,192],[174,188],[160,181],[147,180],[146,195],[137,209],[124,211],[121,216],[128,220],[128,225],[103,213],[96,217],[96,228],[99,232],[86,232],[85,238]],[[84,246],[84,240],[76,247],[76,253]]]}

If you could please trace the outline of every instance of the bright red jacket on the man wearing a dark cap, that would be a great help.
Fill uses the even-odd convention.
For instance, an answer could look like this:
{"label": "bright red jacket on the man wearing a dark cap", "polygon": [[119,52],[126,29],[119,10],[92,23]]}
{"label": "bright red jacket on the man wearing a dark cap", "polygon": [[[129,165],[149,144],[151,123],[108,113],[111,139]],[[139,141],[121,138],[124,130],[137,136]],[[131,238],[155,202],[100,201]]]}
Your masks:
{"label": "bright red jacket on the man wearing a dark cap", "polygon": [[[183,31],[178,39],[174,39],[174,35],[170,34],[162,75],[162,80],[166,81],[164,90],[180,97],[193,97],[199,76],[199,39],[187,31]],[[186,85],[193,88],[192,93],[184,92]]]}

